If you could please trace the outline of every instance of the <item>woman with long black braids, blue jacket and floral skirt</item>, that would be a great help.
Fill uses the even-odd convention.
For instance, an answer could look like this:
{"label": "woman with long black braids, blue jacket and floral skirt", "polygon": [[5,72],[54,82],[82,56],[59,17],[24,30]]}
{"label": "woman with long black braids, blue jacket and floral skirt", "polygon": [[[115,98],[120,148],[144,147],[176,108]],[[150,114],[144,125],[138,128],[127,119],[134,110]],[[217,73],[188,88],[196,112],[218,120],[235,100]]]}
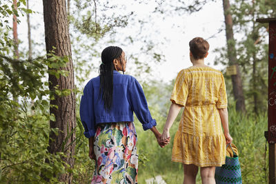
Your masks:
{"label": "woman with long black braids, blue jacket and floral skirt", "polygon": [[[126,54],[116,46],[101,52],[99,76],[86,84],[81,97],[80,116],[89,139],[89,156],[95,160],[92,183],[137,183],[137,134],[133,112],[150,129],[161,147],[144,92],[126,71]],[[123,72],[123,74],[119,73]]]}

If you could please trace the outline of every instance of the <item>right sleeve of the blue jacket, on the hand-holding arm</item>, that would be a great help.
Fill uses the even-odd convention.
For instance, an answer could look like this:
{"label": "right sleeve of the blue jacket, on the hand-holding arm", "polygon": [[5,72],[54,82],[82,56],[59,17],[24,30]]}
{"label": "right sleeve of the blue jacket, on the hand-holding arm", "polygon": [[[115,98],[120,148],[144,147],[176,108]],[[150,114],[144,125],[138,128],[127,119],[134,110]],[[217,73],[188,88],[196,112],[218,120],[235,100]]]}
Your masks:
{"label": "right sleeve of the blue jacket, on the hand-holding arm", "polygon": [[135,112],[139,121],[142,123],[143,129],[148,130],[156,126],[157,123],[155,119],[152,119],[150,110],[148,110],[148,103],[146,101],[144,91],[135,78],[130,83],[128,93],[128,95],[130,96],[130,106]]}

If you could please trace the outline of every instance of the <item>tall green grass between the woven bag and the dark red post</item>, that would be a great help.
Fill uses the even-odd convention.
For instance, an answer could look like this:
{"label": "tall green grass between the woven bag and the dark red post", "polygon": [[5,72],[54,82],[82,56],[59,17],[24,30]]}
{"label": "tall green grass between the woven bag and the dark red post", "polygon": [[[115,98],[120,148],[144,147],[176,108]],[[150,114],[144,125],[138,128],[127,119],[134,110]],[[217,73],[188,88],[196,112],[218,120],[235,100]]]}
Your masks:
{"label": "tall green grass between the woven bag and the dark red post", "polygon": [[248,113],[246,116],[235,111],[230,106],[229,131],[233,143],[239,151],[239,162],[242,168],[243,183],[267,183],[268,154],[264,131],[267,130],[266,113],[256,116]]}

